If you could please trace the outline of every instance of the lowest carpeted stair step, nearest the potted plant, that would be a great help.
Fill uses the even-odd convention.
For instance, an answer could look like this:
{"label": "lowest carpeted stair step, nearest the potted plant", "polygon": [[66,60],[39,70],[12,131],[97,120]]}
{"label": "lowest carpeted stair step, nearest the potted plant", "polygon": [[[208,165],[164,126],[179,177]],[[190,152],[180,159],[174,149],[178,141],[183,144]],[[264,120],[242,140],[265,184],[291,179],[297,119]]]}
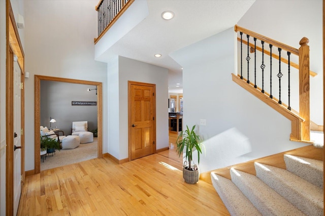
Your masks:
{"label": "lowest carpeted stair step, nearest the potted plant", "polygon": [[231,215],[262,215],[229,179],[211,172],[212,185]]}

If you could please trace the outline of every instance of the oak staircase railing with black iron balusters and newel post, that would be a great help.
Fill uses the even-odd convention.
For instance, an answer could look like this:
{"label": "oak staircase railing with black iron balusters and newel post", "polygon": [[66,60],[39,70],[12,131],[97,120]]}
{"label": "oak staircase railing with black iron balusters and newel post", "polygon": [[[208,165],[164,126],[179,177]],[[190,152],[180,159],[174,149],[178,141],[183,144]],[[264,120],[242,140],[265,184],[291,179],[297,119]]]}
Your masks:
{"label": "oak staircase railing with black iron balusters and newel post", "polygon": [[[265,103],[267,103],[269,106],[277,110],[279,113],[284,115],[286,118],[291,120],[291,135],[290,140],[292,141],[301,141],[301,142],[310,142],[310,99],[309,99],[309,74],[314,74],[314,72],[310,72],[309,70],[309,46],[308,46],[308,38],[304,37],[300,41],[300,48],[296,49],[290,46],[287,46],[285,44],[282,44],[281,42],[278,42],[276,40],[273,40],[271,38],[268,38],[266,36],[263,36],[261,34],[255,33],[253,31],[247,30],[245,28],[242,28],[240,26],[235,25],[235,31],[240,32],[240,41],[241,41],[241,74],[235,75],[233,74],[233,80],[241,85],[244,89],[255,95],[257,98],[261,99]],[[256,41],[260,40],[262,44],[262,88],[257,87],[256,85],[256,52],[255,52],[255,67],[254,67],[254,82],[252,83],[249,80],[249,61],[251,57],[249,56],[249,46],[247,46],[247,57],[245,60],[247,61],[247,77],[244,77],[242,68],[242,44],[243,39],[242,35],[246,34],[247,41],[244,43],[246,45],[249,45],[250,47],[253,47],[254,51],[260,50],[256,47]],[[253,37],[254,44],[249,43],[249,38]],[[270,47],[270,52],[265,52],[264,45],[268,44]],[[279,55],[272,54],[272,48],[278,48]],[[283,57],[281,57],[281,51],[286,51],[288,59],[284,60]],[[270,55],[270,93],[267,93],[264,89],[264,69],[266,68],[266,65],[264,65],[264,54]],[[291,110],[290,107],[290,54],[294,54],[299,56],[299,113]],[[278,60],[279,64],[279,71],[276,75],[279,81],[279,99],[276,99],[272,95],[272,57],[276,58]],[[285,62],[288,64],[288,105],[285,105],[281,101],[281,77],[283,76],[281,72],[281,65],[280,62]],[[295,65],[295,64],[294,64]],[[297,65],[297,64],[296,64]],[[295,66],[293,66],[295,67]],[[297,66],[296,66],[297,67]]]}

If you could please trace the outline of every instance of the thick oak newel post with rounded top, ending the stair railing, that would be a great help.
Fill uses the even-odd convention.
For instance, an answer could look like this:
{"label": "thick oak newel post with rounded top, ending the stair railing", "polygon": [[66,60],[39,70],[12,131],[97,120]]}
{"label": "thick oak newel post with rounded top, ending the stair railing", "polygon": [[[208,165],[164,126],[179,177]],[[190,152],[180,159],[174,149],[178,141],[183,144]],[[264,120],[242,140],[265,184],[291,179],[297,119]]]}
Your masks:
{"label": "thick oak newel post with rounded top, ending the stair railing", "polygon": [[302,122],[301,139],[310,141],[310,99],[309,99],[309,39],[303,37],[299,44],[299,113]]}

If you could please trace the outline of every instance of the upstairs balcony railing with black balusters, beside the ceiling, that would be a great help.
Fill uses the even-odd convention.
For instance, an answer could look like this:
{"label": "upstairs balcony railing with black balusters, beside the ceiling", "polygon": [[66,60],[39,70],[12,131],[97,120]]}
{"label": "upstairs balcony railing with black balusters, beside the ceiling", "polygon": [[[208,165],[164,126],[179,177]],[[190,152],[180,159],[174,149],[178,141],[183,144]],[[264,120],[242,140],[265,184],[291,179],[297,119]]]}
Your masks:
{"label": "upstairs balcony railing with black balusters, beside the ceiling", "polygon": [[135,0],[101,0],[95,10],[98,12],[98,40],[108,31],[116,20]]}

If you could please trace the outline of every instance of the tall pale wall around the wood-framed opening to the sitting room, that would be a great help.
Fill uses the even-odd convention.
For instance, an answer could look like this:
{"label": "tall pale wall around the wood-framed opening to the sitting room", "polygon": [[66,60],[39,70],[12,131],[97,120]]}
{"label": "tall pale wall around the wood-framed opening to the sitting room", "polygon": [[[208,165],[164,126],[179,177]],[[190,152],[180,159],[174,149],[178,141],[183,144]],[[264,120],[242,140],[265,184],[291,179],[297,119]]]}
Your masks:
{"label": "tall pale wall around the wood-framed opening to the sitting room", "polygon": [[[94,61],[96,0],[25,1],[25,170],[34,169],[34,75],[103,82],[107,131],[106,64]],[[107,133],[103,133],[103,152]]]}

